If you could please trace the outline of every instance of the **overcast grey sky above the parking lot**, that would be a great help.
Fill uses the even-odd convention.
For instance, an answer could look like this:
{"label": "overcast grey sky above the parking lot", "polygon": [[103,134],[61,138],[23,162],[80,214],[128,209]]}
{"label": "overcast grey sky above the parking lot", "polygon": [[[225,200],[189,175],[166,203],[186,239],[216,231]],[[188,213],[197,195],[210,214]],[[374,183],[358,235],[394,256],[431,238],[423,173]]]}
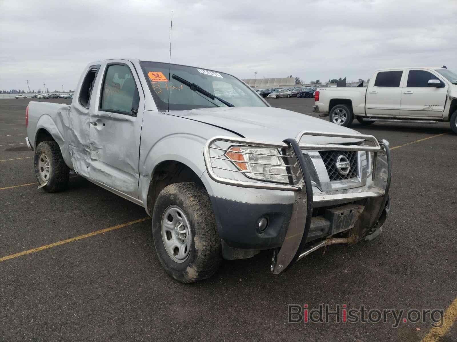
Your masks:
{"label": "overcast grey sky above the parking lot", "polygon": [[303,81],[377,68],[457,70],[457,1],[0,0],[0,89],[74,89],[91,61],[133,57]]}

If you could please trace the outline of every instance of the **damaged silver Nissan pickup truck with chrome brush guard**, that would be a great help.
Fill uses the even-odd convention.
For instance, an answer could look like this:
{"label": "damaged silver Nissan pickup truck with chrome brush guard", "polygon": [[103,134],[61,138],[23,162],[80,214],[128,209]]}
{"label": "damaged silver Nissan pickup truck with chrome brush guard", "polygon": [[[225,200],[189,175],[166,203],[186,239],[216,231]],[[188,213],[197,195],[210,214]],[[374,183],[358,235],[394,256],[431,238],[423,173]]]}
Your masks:
{"label": "damaged silver Nissan pickup truck with chrome brush guard", "polygon": [[387,141],[272,108],[227,73],[93,62],[71,105],[30,102],[26,124],[39,187],[62,191],[74,170],[144,207],[161,264],[184,283],[266,249],[279,274],[376,237],[390,210]]}

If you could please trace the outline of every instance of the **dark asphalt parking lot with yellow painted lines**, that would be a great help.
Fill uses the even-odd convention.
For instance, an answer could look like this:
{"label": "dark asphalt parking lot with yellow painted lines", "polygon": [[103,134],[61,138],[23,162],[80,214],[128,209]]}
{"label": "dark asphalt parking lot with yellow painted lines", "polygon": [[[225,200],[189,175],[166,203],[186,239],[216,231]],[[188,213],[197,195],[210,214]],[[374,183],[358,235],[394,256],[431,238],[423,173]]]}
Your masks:
{"label": "dark asphalt parking lot with yellow painted lines", "polygon": [[[393,148],[392,212],[378,238],[314,252],[279,276],[266,251],[184,285],[162,269],[142,207],[76,175],[65,192],[37,190],[24,142],[29,101],[0,100],[1,341],[457,341],[457,136],[448,123],[355,121]],[[313,99],[269,102],[317,116]],[[430,321],[287,323],[287,305],[305,303],[448,309],[430,334]]]}

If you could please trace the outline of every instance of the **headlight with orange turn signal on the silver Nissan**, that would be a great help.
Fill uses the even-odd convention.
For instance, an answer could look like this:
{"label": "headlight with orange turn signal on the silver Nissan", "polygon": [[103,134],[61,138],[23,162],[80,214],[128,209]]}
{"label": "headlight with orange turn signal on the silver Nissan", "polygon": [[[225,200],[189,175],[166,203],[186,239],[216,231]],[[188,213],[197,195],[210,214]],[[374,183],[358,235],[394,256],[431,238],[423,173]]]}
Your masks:
{"label": "headlight with orange turn signal on the silver Nissan", "polygon": [[[283,157],[276,149],[232,146],[225,156],[246,176],[261,181],[289,183]],[[232,152],[233,151],[233,152]],[[282,176],[284,175],[284,176]]]}

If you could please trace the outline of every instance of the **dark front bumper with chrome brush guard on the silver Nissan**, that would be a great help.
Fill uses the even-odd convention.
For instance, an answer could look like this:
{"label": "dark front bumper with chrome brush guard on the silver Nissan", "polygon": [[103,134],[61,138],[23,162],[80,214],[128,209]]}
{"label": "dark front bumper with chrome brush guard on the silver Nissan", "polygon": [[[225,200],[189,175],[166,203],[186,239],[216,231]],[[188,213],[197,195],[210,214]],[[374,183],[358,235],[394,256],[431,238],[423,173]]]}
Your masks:
{"label": "dark front bumper with chrome brush guard on the silver Nissan", "polygon": [[[374,146],[299,145],[298,141],[304,135],[364,139]],[[221,150],[224,149],[218,147],[220,146],[217,144],[218,142],[278,149],[283,158],[287,158],[287,164],[290,165],[286,167],[289,184],[241,181],[228,178],[226,176],[230,173],[228,171],[246,172],[220,167],[217,163],[213,163],[218,160],[227,161],[220,156]],[[312,184],[314,182],[311,182],[310,177],[312,168],[308,166],[307,159],[303,155],[306,151],[312,150],[350,150],[373,153],[370,181],[366,179],[366,182],[362,183],[360,187],[355,188],[325,192],[313,191]],[[311,152],[309,153],[312,155]],[[295,139],[286,139],[282,143],[221,136],[207,141],[203,155],[208,176],[213,181],[236,187],[289,191],[294,194],[293,203],[274,205],[228,202],[222,198],[211,197],[218,230],[224,242],[224,249],[247,249],[251,251],[254,249],[273,249],[271,270],[274,274],[281,273],[302,258],[303,253],[307,253],[305,247],[310,241],[333,234],[346,234],[348,237],[345,242],[354,243],[379,228],[388,216],[388,209],[386,209],[386,203],[390,206],[390,201],[388,201],[390,187],[388,142],[381,141],[379,143],[371,135],[304,131],[298,134]],[[310,155],[307,154],[306,156],[309,157]],[[252,163],[252,161],[244,162]],[[349,211],[347,211],[348,208]],[[338,215],[343,215],[343,212],[350,212],[351,218],[348,218],[344,224],[336,224],[335,220],[339,217]],[[259,231],[258,228],[260,218],[268,220],[269,226],[264,231]],[[327,241],[325,244],[333,244],[335,241],[343,240],[332,239],[331,242]]]}

